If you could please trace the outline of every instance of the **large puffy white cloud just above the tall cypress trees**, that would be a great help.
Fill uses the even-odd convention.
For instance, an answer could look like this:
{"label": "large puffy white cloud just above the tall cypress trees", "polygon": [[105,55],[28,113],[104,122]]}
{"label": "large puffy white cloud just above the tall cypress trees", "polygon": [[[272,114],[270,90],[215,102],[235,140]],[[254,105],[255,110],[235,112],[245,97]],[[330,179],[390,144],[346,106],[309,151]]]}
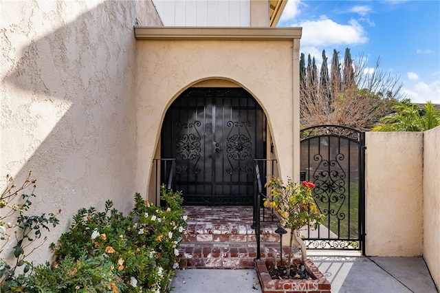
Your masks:
{"label": "large puffy white cloud just above the tall cypress trees", "polygon": [[303,21],[295,26],[303,27],[301,43],[305,46],[358,45],[369,41],[362,25],[354,19],[343,25],[323,16],[318,21]]}

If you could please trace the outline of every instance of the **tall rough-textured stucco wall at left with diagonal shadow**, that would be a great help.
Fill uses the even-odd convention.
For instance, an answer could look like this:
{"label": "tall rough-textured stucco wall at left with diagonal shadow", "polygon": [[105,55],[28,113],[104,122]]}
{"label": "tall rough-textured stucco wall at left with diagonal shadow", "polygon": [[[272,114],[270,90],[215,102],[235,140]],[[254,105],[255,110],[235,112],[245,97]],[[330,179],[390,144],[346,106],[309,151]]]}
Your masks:
{"label": "tall rough-textured stucco wall at left with diagonal shadow", "polygon": [[78,208],[102,208],[105,199],[120,210],[133,207],[133,25],[136,17],[160,23],[151,1],[0,6],[0,186],[7,173],[21,184],[32,170],[32,212],[62,210],[61,224],[33,254],[44,259]]}

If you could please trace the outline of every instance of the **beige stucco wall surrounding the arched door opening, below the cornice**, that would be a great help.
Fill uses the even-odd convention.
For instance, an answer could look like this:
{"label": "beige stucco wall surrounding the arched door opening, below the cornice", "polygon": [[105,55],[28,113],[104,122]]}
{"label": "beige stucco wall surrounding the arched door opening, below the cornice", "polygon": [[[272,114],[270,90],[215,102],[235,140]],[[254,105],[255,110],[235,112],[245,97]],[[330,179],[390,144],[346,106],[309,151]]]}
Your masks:
{"label": "beige stucco wall surrounding the arched door opening, below the cornice", "polygon": [[293,114],[292,41],[140,40],[137,45],[137,191],[146,191],[166,109],[184,89],[212,78],[230,80],[259,101],[281,175],[299,175],[299,162],[293,160],[292,133],[299,124],[294,125]]}

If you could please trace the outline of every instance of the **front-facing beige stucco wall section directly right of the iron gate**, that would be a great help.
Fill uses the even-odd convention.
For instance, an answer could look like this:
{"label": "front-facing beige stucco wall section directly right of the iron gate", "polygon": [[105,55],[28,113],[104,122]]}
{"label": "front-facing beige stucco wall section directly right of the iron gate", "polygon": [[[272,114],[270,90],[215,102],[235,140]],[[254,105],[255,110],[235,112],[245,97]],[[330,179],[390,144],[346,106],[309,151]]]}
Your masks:
{"label": "front-facing beige stucco wall section directly right of the iron gate", "polygon": [[422,168],[423,133],[366,133],[366,255],[423,253]]}

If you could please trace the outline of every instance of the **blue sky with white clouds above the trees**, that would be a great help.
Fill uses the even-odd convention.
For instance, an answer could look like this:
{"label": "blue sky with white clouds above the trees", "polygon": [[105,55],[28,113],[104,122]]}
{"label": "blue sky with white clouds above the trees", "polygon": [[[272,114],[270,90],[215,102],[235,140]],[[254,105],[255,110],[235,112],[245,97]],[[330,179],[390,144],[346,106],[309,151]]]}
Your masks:
{"label": "blue sky with white clouds above the trees", "polygon": [[[289,0],[278,27],[303,27],[301,53],[328,63],[333,49],[343,61],[363,54],[367,67],[380,57],[382,72],[399,76],[411,102],[440,104],[440,1]],[[330,67],[330,66],[329,66]]]}

